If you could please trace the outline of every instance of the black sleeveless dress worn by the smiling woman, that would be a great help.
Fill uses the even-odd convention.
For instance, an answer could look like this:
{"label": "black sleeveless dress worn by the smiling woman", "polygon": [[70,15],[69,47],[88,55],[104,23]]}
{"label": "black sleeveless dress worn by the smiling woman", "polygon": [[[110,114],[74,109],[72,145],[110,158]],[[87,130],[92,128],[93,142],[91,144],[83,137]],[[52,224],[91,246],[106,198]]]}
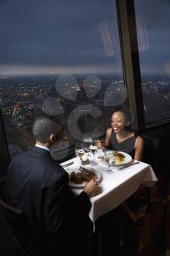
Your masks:
{"label": "black sleeveless dress worn by the smiling woman", "polygon": [[127,140],[124,140],[121,143],[117,142],[117,138],[115,135],[115,132],[112,131],[112,134],[110,136],[110,148],[115,151],[122,151],[127,154],[130,154],[132,158],[134,158],[134,145],[136,141],[137,135],[134,133],[134,136],[131,138],[128,138]]}

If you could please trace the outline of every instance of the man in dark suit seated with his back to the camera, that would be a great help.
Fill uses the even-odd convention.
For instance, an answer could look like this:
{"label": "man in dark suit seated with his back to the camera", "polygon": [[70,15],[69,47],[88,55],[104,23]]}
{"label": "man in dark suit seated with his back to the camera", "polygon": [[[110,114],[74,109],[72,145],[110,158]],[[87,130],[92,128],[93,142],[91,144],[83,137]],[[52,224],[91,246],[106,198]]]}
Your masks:
{"label": "man in dark suit seated with his back to the camera", "polygon": [[80,195],[73,195],[68,173],[50,155],[60,125],[42,117],[36,119],[32,132],[36,145],[12,160],[4,196],[7,203],[25,212],[37,241],[47,244],[47,255],[83,255],[90,197],[97,195],[99,188],[91,180]]}

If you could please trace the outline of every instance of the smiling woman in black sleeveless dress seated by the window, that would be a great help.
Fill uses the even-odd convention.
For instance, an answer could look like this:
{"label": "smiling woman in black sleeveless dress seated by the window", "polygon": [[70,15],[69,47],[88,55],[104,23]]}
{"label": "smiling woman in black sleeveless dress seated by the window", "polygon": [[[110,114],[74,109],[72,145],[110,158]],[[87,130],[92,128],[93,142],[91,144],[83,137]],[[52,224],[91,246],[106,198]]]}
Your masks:
{"label": "smiling woman in black sleeveless dress seated by the window", "polygon": [[144,140],[131,130],[133,114],[128,108],[120,108],[112,113],[111,126],[107,129],[105,140],[98,140],[99,148],[123,151],[133,159],[142,160]]}

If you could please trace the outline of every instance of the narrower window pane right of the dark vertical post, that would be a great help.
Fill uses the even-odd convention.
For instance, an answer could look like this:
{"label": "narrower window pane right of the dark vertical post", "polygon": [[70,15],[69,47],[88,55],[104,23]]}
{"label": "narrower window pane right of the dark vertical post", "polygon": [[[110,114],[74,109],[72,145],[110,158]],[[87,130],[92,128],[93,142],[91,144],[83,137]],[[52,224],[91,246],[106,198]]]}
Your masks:
{"label": "narrower window pane right of the dark vertical post", "polygon": [[168,0],[135,0],[145,123],[170,118]]}

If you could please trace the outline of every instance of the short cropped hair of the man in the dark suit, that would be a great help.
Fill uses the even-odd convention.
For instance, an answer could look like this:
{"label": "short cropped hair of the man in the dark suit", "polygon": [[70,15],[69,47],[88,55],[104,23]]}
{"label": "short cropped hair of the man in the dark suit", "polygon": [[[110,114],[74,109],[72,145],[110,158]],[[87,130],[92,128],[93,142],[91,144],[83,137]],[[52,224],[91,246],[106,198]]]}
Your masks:
{"label": "short cropped hair of the man in the dark suit", "polygon": [[36,141],[45,143],[49,140],[50,135],[57,135],[61,129],[61,125],[52,118],[39,117],[34,121],[32,132]]}

